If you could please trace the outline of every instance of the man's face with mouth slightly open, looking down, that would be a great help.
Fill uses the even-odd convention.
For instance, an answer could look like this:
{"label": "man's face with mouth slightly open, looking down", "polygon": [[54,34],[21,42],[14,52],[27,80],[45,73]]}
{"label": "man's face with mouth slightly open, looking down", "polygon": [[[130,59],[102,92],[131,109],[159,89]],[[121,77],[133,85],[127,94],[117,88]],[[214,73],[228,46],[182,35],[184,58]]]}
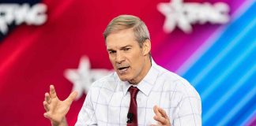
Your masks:
{"label": "man's face with mouth slightly open, looking down", "polygon": [[132,28],[111,33],[106,39],[111,64],[120,80],[139,83],[150,69],[146,65],[149,50],[145,44],[139,46]]}

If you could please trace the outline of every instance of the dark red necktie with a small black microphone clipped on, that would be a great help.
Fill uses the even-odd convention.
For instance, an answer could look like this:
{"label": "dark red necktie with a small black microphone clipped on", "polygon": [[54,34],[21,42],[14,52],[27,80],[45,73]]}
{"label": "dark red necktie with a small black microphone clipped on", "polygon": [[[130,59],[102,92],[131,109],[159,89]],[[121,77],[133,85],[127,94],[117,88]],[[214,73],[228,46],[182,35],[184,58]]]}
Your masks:
{"label": "dark red necktie with a small black microphone clipped on", "polygon": [[139,89],[137,87],[131,86],[129,88],[130,92],[130,108],[127,114],[127,126],[137,126],[137,102],[136,96]]}

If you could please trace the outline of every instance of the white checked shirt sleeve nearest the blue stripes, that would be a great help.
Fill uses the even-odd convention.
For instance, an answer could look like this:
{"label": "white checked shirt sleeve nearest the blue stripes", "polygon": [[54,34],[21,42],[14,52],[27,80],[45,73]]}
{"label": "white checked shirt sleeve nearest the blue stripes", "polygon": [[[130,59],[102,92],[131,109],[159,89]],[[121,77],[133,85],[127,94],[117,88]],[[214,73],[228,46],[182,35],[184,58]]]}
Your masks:
{"label": "white checked shirt sleeve nearest the blue stripes", "polygon": [[190,83],[183,90],[183,98],[176,112],[174,126],[201,126],[201,98]]}

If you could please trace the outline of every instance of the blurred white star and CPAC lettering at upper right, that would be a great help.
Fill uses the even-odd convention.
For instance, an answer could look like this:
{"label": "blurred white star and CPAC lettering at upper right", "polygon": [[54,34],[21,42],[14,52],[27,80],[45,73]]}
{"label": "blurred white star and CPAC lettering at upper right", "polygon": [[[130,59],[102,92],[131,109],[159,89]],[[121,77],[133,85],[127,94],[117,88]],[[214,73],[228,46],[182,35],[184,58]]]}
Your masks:
{"label": "blurred white star and CPAC lettering at upper right", "polygon": [[211,5],[208,2],[196,3],[183,0],[172,0],[168,3],[157,5],[160,13],[166,17],[164,20],[164,31],[170,33],[175,26],[186,33],[192,31],[191,24],[225,24],[229,20],[229,7],[224,2],[217,2]]}

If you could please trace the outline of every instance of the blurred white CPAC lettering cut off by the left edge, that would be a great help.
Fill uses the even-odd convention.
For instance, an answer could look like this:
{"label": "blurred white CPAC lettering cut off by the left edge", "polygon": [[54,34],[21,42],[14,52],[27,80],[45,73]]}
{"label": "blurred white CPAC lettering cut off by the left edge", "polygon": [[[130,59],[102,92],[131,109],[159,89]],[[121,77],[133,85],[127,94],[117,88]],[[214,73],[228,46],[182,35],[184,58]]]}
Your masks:
{"label": "blurred white CPAC lettering cut off by the left edge", "polygon": [[20,25],[26,23],[28,25],[40,25],[47,20],[47,6],[38,3],[29,6],[24,3],[19,4],[0,4],[0,32],[6,34],[8,25]]}

